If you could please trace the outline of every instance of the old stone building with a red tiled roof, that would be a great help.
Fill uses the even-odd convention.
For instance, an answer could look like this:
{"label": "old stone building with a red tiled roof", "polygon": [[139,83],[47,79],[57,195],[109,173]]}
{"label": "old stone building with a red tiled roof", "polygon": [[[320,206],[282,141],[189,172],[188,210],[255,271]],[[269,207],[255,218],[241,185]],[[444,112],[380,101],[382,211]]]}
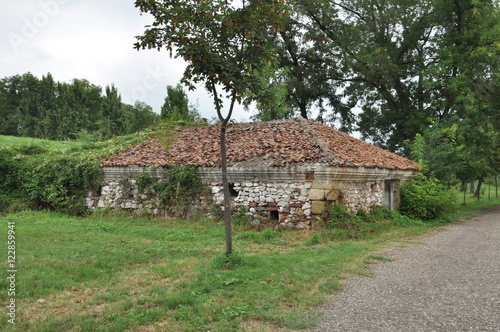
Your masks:
{"label": "old stone building with a red tiled roof", "polygon": [[[193,165],[216,205],[222,205],[218,126],[173,131],[168,149],[157,139],[102,161],[104,183],[89,207],[162,210],[151,197],[120,193],[120,182],[165,167]],[[412,161],[306,119],[232,124],[227,160],[233,208],[282,226],[309,228],[330,204],[351,211],[385,205],[398,209],[400,184],[415,175]],[[120,199],[117,199],[120,198]]]}

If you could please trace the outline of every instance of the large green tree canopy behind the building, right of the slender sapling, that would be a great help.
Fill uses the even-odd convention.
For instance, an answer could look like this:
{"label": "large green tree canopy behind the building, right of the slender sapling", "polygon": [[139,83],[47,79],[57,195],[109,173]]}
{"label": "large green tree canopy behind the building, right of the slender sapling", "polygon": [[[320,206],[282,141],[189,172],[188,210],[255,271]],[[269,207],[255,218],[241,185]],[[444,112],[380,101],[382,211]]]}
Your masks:
{"label": "large green tree canopy behind the building, right of the slender sapling", "polygon": [[279,43],[288,96],[302,110],[317,105],[318,120],[400,152],[435,121],[472,112],[498,120],[496,2],[288,4]]}

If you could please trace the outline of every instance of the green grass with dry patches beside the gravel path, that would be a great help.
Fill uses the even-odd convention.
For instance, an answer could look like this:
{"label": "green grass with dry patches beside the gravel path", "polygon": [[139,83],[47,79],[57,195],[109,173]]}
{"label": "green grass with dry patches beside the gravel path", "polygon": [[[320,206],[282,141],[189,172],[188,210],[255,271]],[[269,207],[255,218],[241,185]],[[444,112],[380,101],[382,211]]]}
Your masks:
{"label": "green grass with dry patches beside the gravel path", "polygon": [[[469,197],[455,217],[499,204]],[[8,224],[15,224],[16,324],[8,323]],[[0,217],[2,331],[290,331],[349,276],[370,274],[387,246],[439,223],[379,220],[351,239],[334,230],[256,232],[123,214],[25,211]],[[0,242],[2,243],[2,242]]]}

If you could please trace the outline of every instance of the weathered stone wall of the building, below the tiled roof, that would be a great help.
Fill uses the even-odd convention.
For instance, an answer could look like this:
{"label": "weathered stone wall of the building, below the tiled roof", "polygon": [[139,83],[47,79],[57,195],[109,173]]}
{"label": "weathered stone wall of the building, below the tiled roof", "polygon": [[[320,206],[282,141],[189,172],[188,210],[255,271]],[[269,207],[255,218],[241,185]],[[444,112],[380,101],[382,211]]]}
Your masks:
{"label": "weathered stone wall of the building, below the tiled roof", "polygon": [[[159,206],[159,200],[139,193],[134,175],[148,172],[159,176],[159,169],[108,168],[99,193],[89,193],[89,208],[122,208],[139,213],[168,215],[169,207]],[[177,216],[188,216],[203,206],[209,212],[214,204],[223,208],[224,194],[220,170],[199,169],[201,180],[209,187],[210,197],[200,197]],[[255,222],[271,220],[282,227],[311,228],[331,204],[342,204],[353,212],[384,204],[384,189],[391,186],[391,208],[399,204],[399,183],[412,172],[358,168],[326,168],[318,165],[270,169],[232,167],[229,169],[232,208],[253,216]],[[390,181],[387,181],[387,180]],[[179,212],[179,211],[173,211]]]}

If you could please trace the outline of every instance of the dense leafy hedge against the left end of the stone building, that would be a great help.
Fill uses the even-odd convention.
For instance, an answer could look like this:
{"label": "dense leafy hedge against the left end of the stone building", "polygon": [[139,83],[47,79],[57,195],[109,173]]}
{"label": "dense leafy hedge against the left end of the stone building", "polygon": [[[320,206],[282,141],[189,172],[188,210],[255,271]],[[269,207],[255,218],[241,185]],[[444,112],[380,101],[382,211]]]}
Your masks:
{"label": "dense leafy hedge against the left end of the stone building", "polygon": [[71,214],[85,211],[85,193],[102,179],[99,162],[80,154],[49,157],[44,152],[40,146],[0,149],[0,211],[12,205]]}

